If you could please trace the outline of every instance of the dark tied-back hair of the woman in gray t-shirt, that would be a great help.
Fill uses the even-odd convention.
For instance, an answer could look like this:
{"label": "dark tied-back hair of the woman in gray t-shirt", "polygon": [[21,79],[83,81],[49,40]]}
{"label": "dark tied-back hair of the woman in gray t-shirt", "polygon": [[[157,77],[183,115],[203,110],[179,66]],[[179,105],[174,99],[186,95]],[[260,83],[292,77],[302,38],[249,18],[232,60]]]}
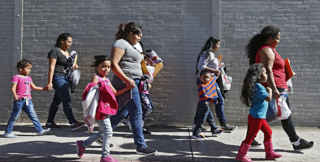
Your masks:
{"label": "dark tied-back hair of the woman in gray t-shirt", "polygon": [[133,34],[141,34],[142,27],[135,22],[120,24],[118,32],[115,35],[115,38],[116,40],[123,39],[124,37],[128,36],[130,32],[132,32]]}

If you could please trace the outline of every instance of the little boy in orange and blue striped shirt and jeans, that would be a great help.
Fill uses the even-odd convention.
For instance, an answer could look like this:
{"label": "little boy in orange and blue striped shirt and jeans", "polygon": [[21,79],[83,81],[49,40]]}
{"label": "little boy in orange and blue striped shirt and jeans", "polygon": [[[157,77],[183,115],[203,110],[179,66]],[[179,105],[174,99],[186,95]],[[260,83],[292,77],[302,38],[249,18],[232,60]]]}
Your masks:
{"label": "little boy in orange and blue striped shirt and jeans", "polygon": [[200,134],[203,128],[205,121],[211,127],[212,136],[219,135],[223,132],[222,129],[218,129],[215,122],[213,121],[213,114],[209,107],[209,102],[217,104],[218,101],[215,98],[218,98],[216,91],[216,79],[217,76],[210,77],[210,72],[208,70],[202,70],[200,72],[199,80],[201,81],[198,86],[198,95],[199,102],[197,105],[198,118],[196,121],[196,127],[192,133],[192,138],[203,140],[204,135]]}

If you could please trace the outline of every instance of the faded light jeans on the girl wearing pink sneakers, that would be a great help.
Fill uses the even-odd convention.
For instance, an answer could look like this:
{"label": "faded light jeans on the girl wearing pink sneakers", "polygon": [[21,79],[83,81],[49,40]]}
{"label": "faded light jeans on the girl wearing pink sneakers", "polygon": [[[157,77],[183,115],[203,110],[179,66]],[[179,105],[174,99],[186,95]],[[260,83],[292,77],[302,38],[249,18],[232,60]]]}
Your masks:
{"label": "faded light jeans on the girl wearing pink sneakers", "polygon": [[83,141],[83,146],[87,148],[92,145],[93,142],[103,138],[102,142],[102,158],[105,158],[109,155],[109,145],[112,137],[112,128],[110,123],[110,116],[106,115],[103,120],[96,120],[99,126],[99,132],[93,134],[91,137]]}

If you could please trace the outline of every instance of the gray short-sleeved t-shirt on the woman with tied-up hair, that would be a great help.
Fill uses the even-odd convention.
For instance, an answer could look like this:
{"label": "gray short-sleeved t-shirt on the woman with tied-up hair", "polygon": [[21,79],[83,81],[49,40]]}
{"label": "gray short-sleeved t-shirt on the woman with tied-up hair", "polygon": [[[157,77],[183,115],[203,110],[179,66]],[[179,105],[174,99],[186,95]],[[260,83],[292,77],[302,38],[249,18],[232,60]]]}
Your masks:
{"label": "gray short-sleeved t-shirt on the woman with tied-up hair", "polygon": [[116,40],[111,48],[117,47],[124,50],[124,55],[120,59],[118,65],[127,77],[142,76],[141,64],[142,55],[137,49],[134,49],[129,42],[124,39]]}

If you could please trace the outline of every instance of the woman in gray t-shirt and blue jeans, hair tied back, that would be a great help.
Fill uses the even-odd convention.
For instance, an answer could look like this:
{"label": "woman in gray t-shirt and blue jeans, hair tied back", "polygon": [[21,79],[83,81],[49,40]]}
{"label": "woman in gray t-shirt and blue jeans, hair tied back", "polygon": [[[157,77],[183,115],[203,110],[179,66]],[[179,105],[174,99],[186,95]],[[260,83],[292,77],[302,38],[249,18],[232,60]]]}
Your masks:
{"label": "woman in gray t-shirt and blue jeans, hair tied back", "polygon": [[[115,73],[112,79],[112,85],[116,90],[125,86],[131,91],[116,97],[118,109],[116,115],[110,118],[113,128],[118,125],[120,120],[125,117],[121,114],[121,109],[129,112],[131,119],[131,129],[134,144],[137,146],[136,153],[140,155],[153,155],[157,150],[147,146],[142,133],[142,108],[138,91],[138,84],[142,77],[140,62],[143,60],[140,52],[133,47],[142,37],[142,29],[139,24],[130,22],[128,24],[120,24],[116,33],[116,42],[111,48],[111,69]],[[122,117],[122,118],[121,118]]]}

